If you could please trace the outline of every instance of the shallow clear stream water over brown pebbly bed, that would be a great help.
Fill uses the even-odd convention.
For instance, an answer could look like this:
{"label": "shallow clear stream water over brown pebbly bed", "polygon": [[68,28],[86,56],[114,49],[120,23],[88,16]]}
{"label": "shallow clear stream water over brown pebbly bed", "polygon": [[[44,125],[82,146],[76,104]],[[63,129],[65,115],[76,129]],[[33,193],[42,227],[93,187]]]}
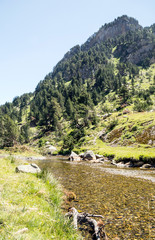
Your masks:
{"label": "shallow clear stream water over brown pebbly bed", "polygon": [[109,239],[155,240],[154,170],[118,169],[58,158],[37,164],[76,194],[72,206],[78,211],[103,215]]}

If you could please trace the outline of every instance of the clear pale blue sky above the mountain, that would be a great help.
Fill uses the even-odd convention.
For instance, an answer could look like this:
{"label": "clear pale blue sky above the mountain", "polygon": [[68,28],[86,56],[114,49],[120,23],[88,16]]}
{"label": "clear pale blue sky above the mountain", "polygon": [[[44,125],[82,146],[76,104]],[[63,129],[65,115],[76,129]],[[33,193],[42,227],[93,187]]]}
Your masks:
{"label": "clear pale blue sky above the mountain", "polygon": [[0,0],[0,105],[33,92],[73,46],[118,16],[155,23],[155,0]]}

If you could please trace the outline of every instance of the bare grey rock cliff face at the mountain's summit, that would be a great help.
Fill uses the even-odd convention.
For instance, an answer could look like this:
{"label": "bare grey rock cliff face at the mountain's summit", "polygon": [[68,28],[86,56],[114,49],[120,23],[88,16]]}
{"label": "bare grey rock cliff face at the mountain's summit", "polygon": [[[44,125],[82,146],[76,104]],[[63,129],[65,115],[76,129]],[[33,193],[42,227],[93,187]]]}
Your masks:
{"label": "bare grey rock cliff face at the mountain's summit", "polygon": [[118,17],[112,23],[105,24],[98,32],[94,33],[86,43],[82,45],[82,50],[88,50],[97,43],[100,44],[108,39],[116,38],[129,31],[137,31],[141,29],[142,27],[134,18],[129,18],[127,16]]}

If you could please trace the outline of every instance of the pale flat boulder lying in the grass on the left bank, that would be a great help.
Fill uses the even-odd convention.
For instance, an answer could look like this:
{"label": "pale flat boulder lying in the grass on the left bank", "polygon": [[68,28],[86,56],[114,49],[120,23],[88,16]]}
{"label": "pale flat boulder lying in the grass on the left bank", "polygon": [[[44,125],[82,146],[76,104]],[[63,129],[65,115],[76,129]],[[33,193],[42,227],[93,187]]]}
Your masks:
{"label": "pale flat boulder lying in the grass on the left bank", "polygon": [[15,172],[40,173],[41,169],[35,163],[31,163],[29,165],[19,165],[16,167]]}

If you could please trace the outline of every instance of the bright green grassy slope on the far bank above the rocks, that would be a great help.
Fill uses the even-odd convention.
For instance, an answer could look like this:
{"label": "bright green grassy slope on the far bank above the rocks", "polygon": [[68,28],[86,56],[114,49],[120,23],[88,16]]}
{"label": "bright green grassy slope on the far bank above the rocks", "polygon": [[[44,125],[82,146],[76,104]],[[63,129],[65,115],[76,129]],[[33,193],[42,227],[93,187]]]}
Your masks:
{"label": "bright green grassy slope on the far bank above the rocks", "polygon": [[[107,118],[106,121],[100,121],[99,125],[94,130],[88,129],[83,146],[75,146],[74,151],[79,153],[89,149],[93,150],[95,153],[103,154],[107,157],[112,156],[117,161],[121,161],[123,159],[134,159],[137,161],[143,160],[144,162],[155,162],[154,147],[148,144],[140,143],[145,140],[144,137],[146,138],[146,142],[148,141],[148,129],[155,126],[155,112],[131,112],[129,114],[126,114],[125,118],[123,117],[123,115],[118,117],[117,115],[117,112],[113,113],[113,115]],[[115,118],[117,118],[118,123],[109,134],[111,135],[111,138],[113,136],[113,139],[115,139],[117,138],[117,129],[122,129],[120,131],[121,140],[119,145],[113,145],[111,144],[111,142],[103,142],[98,137],[98,133],[103,128],[107,128],[108,131],[108,124]],[[112,132],[114,133],[113,135]],[[145,136],[145,132],[147,136]],[[120,135],[118,137],[120,137]],[[121,143],[125,142],[127,142],[127,146],[121,145]],[[129,142],[131,142],[130,145]]]}

